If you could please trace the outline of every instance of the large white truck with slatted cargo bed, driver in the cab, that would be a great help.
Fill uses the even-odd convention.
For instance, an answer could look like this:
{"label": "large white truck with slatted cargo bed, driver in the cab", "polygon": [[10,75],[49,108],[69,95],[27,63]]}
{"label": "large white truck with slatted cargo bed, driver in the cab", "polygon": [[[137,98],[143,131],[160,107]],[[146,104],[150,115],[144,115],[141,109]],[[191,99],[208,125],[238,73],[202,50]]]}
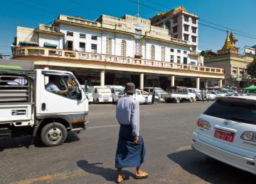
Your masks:
{"label": "large white truck with slatted cargo bed, driver in the cab", "polygon": [[32,135],[58,146],[69,131],[86,129],[87,114],[87,96],[72,72],[0,59],[0,139]]}

